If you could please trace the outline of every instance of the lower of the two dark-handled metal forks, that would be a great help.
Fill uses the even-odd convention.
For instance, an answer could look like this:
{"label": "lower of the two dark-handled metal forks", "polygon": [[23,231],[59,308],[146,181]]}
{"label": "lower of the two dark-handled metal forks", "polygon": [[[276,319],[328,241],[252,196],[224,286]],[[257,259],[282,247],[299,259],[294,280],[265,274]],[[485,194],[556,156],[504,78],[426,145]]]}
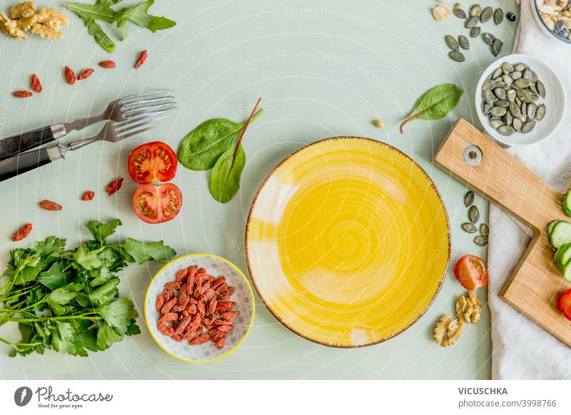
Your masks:
{"label": "lower of the two dark-handled metal forks", "polygon": [[73,141],[68,144],[57,143],[50,147],[30,150],[27,153],[21,153],[10,158],[5,158],[4,160],[0,160],[0,182],[13,178],[21,173],[26,173],[30,170],[39,168],[42,165],[51,163],[59,158],[65,158],[68,151],[78,150],[79,148],[95,143],[96,141],[110,141],[111,143],[116,143],[126,138],[133,137],[133,135],[144,133],[156,126],[155,124],[151,124],[151,122],[158,121],[162,118],[166,118],[166,116],[156,118],[138,118],[138,121],[133,121],[131,119],[121,123],[107,121],[103,129],[94,137]]}

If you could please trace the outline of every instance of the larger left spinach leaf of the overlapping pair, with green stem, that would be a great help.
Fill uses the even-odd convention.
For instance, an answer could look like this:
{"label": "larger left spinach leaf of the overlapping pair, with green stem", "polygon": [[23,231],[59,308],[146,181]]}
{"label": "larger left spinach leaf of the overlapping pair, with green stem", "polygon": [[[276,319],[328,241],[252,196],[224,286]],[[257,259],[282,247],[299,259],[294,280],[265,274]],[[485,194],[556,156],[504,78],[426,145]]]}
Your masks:
{"label": "larger left spinach leaf of the overlapping pair, with green stem", "polygon": [[[263,113],[261,110],[250,122]],[[214,118],[194,128],[178,147],[178,161],[190,170],[214,167],[222,153],[234,148],[246,123],[234,123],[226,118]]]}

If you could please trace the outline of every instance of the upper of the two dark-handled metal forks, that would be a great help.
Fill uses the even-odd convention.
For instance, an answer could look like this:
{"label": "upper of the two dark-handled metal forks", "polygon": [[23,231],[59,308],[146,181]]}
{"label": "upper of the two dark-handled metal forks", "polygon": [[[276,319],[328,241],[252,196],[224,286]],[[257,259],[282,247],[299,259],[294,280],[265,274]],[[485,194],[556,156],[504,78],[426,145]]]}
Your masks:
{"label": "upper of the two dark-handled metal forks", "polygon": [[160,116],[176,109],[171,91],[138,93],[118,98],[109,103],[103,113],[96,116],[77,118],[70,123],[58,123],[48,127],[38,128],[26,133],[12,135],[0,140],[0,160],[23,153],[31,148],[39,147],[70,133],[81,130],[100,121],[123,122],[138,120],[146,117]]}

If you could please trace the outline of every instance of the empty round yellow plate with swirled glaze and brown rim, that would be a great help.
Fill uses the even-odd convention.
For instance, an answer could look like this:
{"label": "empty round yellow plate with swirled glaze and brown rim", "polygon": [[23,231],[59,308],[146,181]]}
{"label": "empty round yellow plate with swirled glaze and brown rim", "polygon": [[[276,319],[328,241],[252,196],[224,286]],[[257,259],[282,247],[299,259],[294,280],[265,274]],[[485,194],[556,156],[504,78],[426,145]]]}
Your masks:
{"label": "empty round yellow plate with swirled glaze and brown rim", "polygon": [[256,290],[286,327],[327,346],[368,346],[403,332],[433,302],[450,259],[448,215],[407,155],[330,138],[266,178],[246,255]]}

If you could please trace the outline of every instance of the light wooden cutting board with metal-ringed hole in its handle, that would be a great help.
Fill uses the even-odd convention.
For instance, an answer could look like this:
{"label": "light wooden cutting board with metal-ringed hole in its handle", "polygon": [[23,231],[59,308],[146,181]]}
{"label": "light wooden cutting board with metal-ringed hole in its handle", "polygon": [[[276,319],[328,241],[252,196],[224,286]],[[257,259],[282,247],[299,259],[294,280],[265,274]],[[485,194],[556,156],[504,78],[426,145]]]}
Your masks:
{"label": "light wooden cutting board with metal-ringed hole in its handle", "polygon": [[[448,133],[433,161],[529,225],[533,232],[530,245],[517,262],[500,297],[571,346],[571,322],[562,316],[558,307],[561,294],[571,284],[553,264],[554,252],[546,235],[547,224],[552,220],[571,222],[561,209],[562,193],[461,118]],[[563,194],[568,187],[569,183]],[[490,232],[494,230],[490,229]]]}

